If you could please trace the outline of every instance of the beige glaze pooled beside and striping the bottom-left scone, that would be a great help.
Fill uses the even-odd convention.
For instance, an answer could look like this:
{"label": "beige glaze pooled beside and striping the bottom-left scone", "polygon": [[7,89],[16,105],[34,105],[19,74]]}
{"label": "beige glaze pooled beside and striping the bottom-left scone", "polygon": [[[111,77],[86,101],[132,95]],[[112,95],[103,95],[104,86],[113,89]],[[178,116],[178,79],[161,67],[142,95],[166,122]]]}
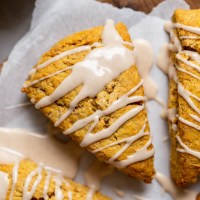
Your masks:
{"label": "beige glaze pooled beside and striping the bottom-left scone", "polygon": [[[23,143],[21,141],[23,141]],[[46,175],[42,197],[45,200],[49,199],[49,195],[47,193],[49,191],[50,181],[52,182],[53,179],[55,183],[55,199],[63,200],[63,185],[70,188],[70,183],[64,177],[67,175],[68,177],[74,178],[78,169],[78,160],[83,153],[82,149],[79,150],[79,148],[77,149],[75,146],[76,145],[72,141],[62,143],[56,141],[56,139],[53,139],[50,136],[40,136],[36,133],[30,133],[20,129],[1,128],[0,164],[13,165],[12,177],[10,179],[12,181],[12,186],[10,190],[10,180],[8,178],[8,174],[4,171],[0,171],[1,198],[6,199],[8,191],[10,191],[9,199],[13,199],[14,191],[16,191],[15,186],[17,183],[19,184],[20,181],[19,168],[21,162],[25,162],[26,159],[33,159],[39,164],[37,168],[30,171],[24,180],[24,185],[22,187],[22,199],[30,200],[33,198],[33,195],[41,184],[41,181],[44,179],[45,171]],[[32,147],[35,149],[33,150]],[[45,166],[41,162],[44,163]],[[48,163],[48,166],[46,163]],[[55,167],[58,167],[58,169]],[[36,178],[34,179],[34,177]],[[67,192],[69,200],[72,199],[73,192],[75,191],[70,191],[70,189]],[[89,197],[87,199],[92,200],[95,192],[96,190],[91,194],[91,190],[88,190],[87,196]]]}

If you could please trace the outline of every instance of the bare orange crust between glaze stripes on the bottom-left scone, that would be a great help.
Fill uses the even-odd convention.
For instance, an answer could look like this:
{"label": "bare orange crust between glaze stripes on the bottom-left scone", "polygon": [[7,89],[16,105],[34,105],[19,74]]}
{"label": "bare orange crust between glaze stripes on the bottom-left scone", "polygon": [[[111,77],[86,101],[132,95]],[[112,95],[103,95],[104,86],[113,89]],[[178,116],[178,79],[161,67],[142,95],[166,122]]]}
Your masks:
{"label": "bare orange crust between glaze stripes on the bottom-left scone", "polygon": [[[0,171],[8,174],[8,178],[10,180],[9,184],[9,190],[6,196],[5,200],[9,200],[11,189],[12,189],[12,169],[14,167],[14,164],[0,164]],[[38,168],[38,164],[30,161],[30,160],[22,160],[19,163],[19,169],[18,169],[18,178],[17,182],[14,188],[13,192],[13,200],[21,200],[23,197],[23,188],[26,181],[27,176],[34,170]],[[42,179],[40,183],[38,184],[38,187],[32,197],[33,200],[42,200],[43,199],[43,190],[45,186],[45,180],[47,178],[47,171],[45,169],[42,170]],[[55,179],[54,179],[54,173],[51,174],[49,187],[48,187],[48,199],[54,200],[55,199]],[[30,182],[29,185],[29,191],[33,187],[33,184],[36,180],[37,176],[34,176]],[[64,181],[67,181],[69,184],[66,184]],[[72,193],[72,199],[73,200],[85,200],[89,191],[89,188],[75,183],[74,181],[64,178],[64,181],[62,181],[61,189],[64,195],[64,199],[68,199],[68,192]],[[94,196],[92,198],[93,200],[109,200],[110,198],[100,194],[99,192],[95,192]]]}

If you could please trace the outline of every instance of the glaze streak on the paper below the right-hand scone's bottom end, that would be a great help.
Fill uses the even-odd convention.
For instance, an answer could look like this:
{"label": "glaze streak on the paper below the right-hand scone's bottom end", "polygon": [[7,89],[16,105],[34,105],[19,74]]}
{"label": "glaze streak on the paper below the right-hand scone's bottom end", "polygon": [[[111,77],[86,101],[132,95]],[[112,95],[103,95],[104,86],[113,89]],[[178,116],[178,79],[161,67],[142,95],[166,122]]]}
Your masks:
{"label": "glaze streak on the paper below the right-hand scone's bottom end", "polygon": [[164,191],[171,195],[173,200],[196,200],[197,198],[198,192],[177,188],[168,177],[160,172],[156,173],[155,179],[163,187]]}

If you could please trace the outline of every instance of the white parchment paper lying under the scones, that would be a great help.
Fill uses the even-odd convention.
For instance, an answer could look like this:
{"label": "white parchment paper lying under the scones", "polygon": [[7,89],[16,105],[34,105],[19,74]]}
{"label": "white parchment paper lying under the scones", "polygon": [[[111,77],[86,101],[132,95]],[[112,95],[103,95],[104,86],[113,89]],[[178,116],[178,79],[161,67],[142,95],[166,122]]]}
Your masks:
{"label": "white parchment paper lying under the scones", "polygon": [[[94,0],[37,0],[30,30],[15,45],[1,72],[0,126],[26,128],[41,134],[46,132],[47,120],[32,105],[8,108],[28,102],[25,95],[20,92],[21,86],[40,55],[59,39],[82,29],[102,25],[105,19],[111,18],[115,22],[124,22],[133,40],[148,40],[156,54],[162,43],[168,41],[163,30],[164,20],[169,20],[176,8],[188,8],[188,5],[181,0],[167,0],[154,8],[149,15],[145,15],[142,12],[128,8],[118,9]],[[151,77],[159,86],[159,98],[167,102],[167,77],[156,66],[151,71]],[[149,102],[148,110],[156,152],[155,166],[158,171],[169,176],[169,142],[163,142],[164,138],[168,137],[167,122],[160,117],[162,108],[156,102]],[[82,158],[77,181],[84,182],[83,171],[92,159],[94,157],[90,153]],[[101,191],[113,199],[121,199],[113,193],[112,187],[123,190],[124,199],[127,200],[134,199],[136,194],[152,200],[171,199],[169,195],[163,194],[155,181],[151,185],[146,185],[120,172],[107,177]],[[200,184],[193,188],[198,191]]]}

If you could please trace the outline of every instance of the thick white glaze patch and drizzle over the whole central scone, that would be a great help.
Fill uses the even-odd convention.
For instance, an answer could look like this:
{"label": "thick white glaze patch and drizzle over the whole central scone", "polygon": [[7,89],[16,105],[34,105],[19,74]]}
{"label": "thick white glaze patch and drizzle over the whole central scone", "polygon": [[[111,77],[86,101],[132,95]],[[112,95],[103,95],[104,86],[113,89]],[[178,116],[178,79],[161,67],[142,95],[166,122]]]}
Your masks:
{"label": "thick white glaze patch and drizzle over the whole central scone", "polygon": [[[138,48],[139,50],[141,49],[144,50],[144,48],[147,46],[146,43],[144,44],[144,42],[138,42],[138,43],[139,43],[138,45],[141,46],[141,48]],[[152,65],[153,59],[150,58],[144,62],[144,59],[143,58],[141,59],[141,56],[137,55],[141,54],[141,52],[137,53],[138,51],[137,45],[136,48],[134,49],[135,52],[126,48],[124,44],[131,46],[132,44],[130,44],[129,42],[124,42],[122,40],[121,36],[115,29],[114,22],[112,20],[106,21],[102,33],[102,44],[103,44],[102,47],[96,48],[91,52],[89,52],[89,54],[85,57],[83,61],[76,63],[72,67],[72,72],[70,73],[70,75],[61,82],[61,84],[54,90],[54,92],[51,95],[43,97],[36,103],[36,108],[48,106],[57,101],[58,99],[62,98],[63,96],[65,96],[70,91],[74,90],[76,87],[82,85],[82,88],[78,93],[78,95],[71,101],[69,109],[56,121],[56,123],[54,124],[55,126],[59,126],[73,112],[74,108],[78,105],[80,101],[82,101],[86,97],[96,96],[100,91],[102,91],[102,89],[106,86],[107,83],[112,81],[114,78],[119,76],[120,73],[122,73],[123,71],[127,70],[130,66],[132,66],[135,63],[136,57],[137,57],[136,63],[138,63],[138,65],[142,67],[141,69],[143,69],[140,71],[142,71],[142,74],[145,77],[147,76],[150,70],[149,66]],[[100,46],[99,43],[98,46]],[[153,57],[152,49],[150,48],[150,46],[148,46],[148,49],[149,49],[148,57]],[[70,55],[68,54],[69,52],[70,51],[66,51],[61,54],[64,56]],[[47,61],[37,66],[34,69],[35,70],[34,72],[36,72],[37,69],[41,69],[43,67],[46,67],[50,63],[55,62],[61,57],[57,55],[56,57],[51,58],[49,62]],[[147,70],[144,67],[145,64],[148,65]],[[56,72],[56,74],[58,73]],[[54,75],[55,73],[49,76],[52,77]],[[43,77],[43,79],[44,78],[46,79],[48,77]],[[35,82],[39,81],[41,80],[36,80]],[[34,83],[32,82],[31,84]],[[72,125],[72,127],[64,131],[64,134],[73,133],[74,131],[83,128],[88,123],[93,122],[90,128],[88,129],[88,132],[85,134],[82,142],[80,143],[82,147],[87,147],[95,142],[98,142],[99,140],[111,136],[126,121],[139,114],[144,109],[144,104],[129,110],[123,116],[119,117],[109,128],[99,131],[95,134],[92,133],[92,130],[98,124],[100,117],[108,115],[120,108],[123,108],[129,103],[145,101],[145,98],[143,96],[128,97],[134,91],[136,91],[142,85],[142,83],[143,82],[141,81],[135,88],[133,88],[127,94],[123,95],[118,100],[113,102],[113,104],[111,104],[111,106],[109,106],[106,110],[104,111],[97,110],[94,114],[84,119],[78,120]],[[129,141],[131,139],[129,138]],[[147,148],[150,145],[151,145],[151,139],[147,142],[147,144],[143,148],[141,148],[136,152],[135,156],[133,155],[128,156],[127,160],[117,161],[115,164],[120,167],[123,166],[125,167],[131,164],[131,161],[137,162],[140,161],[140,158],[141,160],[148,159],[154,153],[154,150],[150,151],[147,150]],[[130,144],[128,145],[127,143],[125,146],[130,146]],[[123,150],[120,150],[118,152],[119,155],[120,153],[123,153]],[[143,155],[145,153],[146,155]]]}

